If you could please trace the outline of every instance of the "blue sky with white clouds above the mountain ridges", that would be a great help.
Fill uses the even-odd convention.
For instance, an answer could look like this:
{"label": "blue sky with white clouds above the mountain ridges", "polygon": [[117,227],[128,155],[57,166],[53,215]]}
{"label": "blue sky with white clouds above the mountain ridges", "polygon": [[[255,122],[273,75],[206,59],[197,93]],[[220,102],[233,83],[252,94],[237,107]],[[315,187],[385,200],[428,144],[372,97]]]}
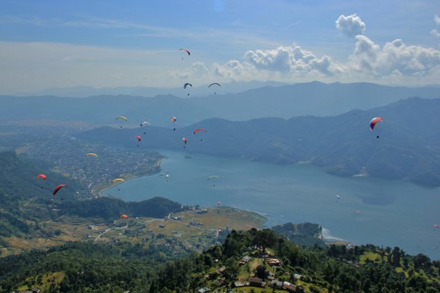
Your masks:
{"label": "blue sky with white clouds above the mountain ridges", "polygon": [[0,7],[1,94],[250,80],[440,84],[440,0],[0,0]]}

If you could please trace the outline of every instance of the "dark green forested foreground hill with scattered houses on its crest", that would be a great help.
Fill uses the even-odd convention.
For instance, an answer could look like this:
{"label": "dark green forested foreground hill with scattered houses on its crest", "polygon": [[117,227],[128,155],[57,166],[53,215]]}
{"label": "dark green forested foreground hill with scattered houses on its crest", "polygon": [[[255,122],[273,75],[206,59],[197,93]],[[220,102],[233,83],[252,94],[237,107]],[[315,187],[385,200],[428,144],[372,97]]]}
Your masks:
{"label": "dark green forested foreground hill with scattered houses on its crest", "polygon": [[[229,292],[245,286],[234,290],[274,292],[277,280],[293,284],[295,292],[440,291],[440,262],[398,247],[301,248],[272,230],[251,229],[232,230],[224,243],[165,264],[162,248],[67,243],[2,257],[0,290]],[[249,284],[251,277],[265,282],[264,291],[256,279]]]}

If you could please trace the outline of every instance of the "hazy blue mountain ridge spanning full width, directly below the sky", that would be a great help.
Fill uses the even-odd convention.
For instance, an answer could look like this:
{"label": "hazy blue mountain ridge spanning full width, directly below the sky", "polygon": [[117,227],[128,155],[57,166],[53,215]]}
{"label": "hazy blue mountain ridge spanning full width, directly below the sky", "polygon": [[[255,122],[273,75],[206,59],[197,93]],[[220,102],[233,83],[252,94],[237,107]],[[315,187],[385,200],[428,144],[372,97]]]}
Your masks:
{"label": "hazy blue mountain ridge spanning full width, directly below the sky", "polygon": [[[59,98],[56,96],[0,96],[0,122],[22,120],[87,121],[93,125],[115,125],[115,117],[129,119],[126,127],[138,127],[142,121],[154,126],[182,127],[213,117],[247,121],[264,117],[290,119],[313,115],[327,117],[353,109],[368,110],[418,96],[440,98],[439,87],[386,87],[379,84],[323,84],[308,82],[261,87],[242,93],[198,98],[155,96],[92,96]],[[170,117],[177,117],[175,125]]]}

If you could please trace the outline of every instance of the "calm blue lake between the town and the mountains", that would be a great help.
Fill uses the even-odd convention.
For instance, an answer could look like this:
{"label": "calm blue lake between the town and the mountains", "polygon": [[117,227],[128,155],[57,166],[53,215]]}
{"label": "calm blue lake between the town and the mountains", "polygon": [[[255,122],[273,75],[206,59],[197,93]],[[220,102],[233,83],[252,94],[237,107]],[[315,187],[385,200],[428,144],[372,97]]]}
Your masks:
{"label": "calm blue lake between the town and the mountains", "polygon": [[[310,164],[280,166],[177,151],[160,153],[167,157],[161,174],[125,181],[103,195],[129,201],[161,196],[200,206],[217,206],[220,201],[264,214],[267,227],[318,223],[328,237],[399,246],[411,254],[440,259],[440,229],[432,226],[440,224],[440,188],[371,176],[332,176]],[[191,158],[184,158],[187,155]],[[221,178],[208,181],[210,175]]]}

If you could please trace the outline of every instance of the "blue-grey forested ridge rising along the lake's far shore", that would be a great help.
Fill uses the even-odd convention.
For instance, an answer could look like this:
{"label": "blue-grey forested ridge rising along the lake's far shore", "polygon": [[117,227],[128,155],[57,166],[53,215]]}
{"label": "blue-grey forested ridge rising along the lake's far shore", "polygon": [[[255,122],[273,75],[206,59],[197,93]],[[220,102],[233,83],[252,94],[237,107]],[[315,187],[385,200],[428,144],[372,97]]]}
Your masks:
{"label": "blue-grey forested ridge rising along the lake's far shore", "polygon": [[[208,119],[179,128],[96,128],[78,137],[89,142],[136,148],[177,149],[270,163],[309,161],[332,174],[370,174],[440,186],[440,99],[409,98],[372,110],[335,117],[226,121]],[[373,117],[383,117],[374,132]],[[197,128],[205,128],[193,134]],[[142,133],[145,132],[145,135]],[[379,135],[379,138],[376,138]],[[182,137],[188,144],[183,147]]]}

